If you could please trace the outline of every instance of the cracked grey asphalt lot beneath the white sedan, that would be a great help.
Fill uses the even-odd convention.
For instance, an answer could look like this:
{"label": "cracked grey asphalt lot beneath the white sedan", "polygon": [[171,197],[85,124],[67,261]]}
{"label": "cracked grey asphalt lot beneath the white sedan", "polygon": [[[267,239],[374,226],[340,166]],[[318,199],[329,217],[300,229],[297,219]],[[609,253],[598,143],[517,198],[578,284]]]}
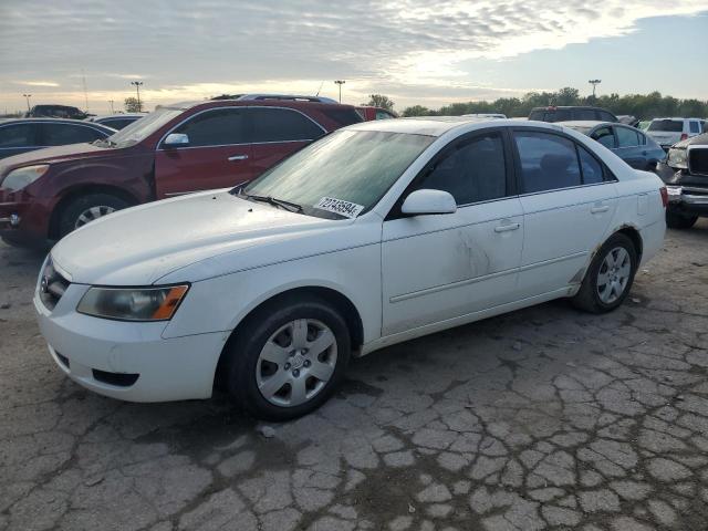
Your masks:
{"label": "cracked grey asphalt lot beneath the white sedan", "polygon": [[708,220],[565,301],[355,361],[316,414],[127,404],[54,366],[0,244],[0,530],[708,529]]}

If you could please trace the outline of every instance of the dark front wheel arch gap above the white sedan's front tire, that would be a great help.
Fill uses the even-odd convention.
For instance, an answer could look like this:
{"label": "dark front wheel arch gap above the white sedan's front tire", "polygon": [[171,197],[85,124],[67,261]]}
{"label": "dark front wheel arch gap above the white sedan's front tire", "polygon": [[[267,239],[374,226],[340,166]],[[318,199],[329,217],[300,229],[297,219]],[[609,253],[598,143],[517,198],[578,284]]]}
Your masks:
{"label": "dark front wheel arch gap above the white sedan's front tire", "polygon": [[278,293],[271,294],[270,296],[257,303],[246,315],[243,315],[243,317],[231,331],[223,347],[221,348],[221,353],[219,354],[219,361],[217,363],[214,377],[215,387],[221,387],[220,378],[223,372],[222,368],[226,360],[225,353],[228,351],[228,348],[231,347],[239,332],[242,331],[260,311],[268,308],[269,305],[283,303],[288,300],[301,298],[303,295],[317,296],[323,301],[329,302],[337,311],[340,311],[350,331],[352,352],[356,352],[358,348],[361,348],[362,344],[364,343],[364,323],[362,321],[358,309],[348,296],[334,288],[323,285],[303,285],[285,289]]}

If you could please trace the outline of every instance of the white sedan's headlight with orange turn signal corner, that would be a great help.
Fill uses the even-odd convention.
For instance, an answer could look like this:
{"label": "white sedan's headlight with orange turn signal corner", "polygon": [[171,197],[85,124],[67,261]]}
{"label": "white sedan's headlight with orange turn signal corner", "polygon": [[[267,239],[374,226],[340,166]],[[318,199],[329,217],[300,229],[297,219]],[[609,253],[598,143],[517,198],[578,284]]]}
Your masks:
{"label": "white sedan's headlight with orange turn signal corner", "polygon": [[90,288],[76,311],[119,321],[169,321],[188,284],[164,288]]}

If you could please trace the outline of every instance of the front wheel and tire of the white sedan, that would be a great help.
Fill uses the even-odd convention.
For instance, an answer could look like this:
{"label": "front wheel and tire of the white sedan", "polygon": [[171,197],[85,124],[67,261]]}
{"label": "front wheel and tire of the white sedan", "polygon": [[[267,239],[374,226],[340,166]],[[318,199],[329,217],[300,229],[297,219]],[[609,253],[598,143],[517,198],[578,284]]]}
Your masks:
{"label": "front wheel and tire of the white sedan", "polygon": [[[330,346],[321,351],[323,345]],[[350,355],[350,331],[335,308],[314,295],[284,298],[239,327],[225,351],[220,377],[237,404],[257,418],[289,420],[332,396]]]}

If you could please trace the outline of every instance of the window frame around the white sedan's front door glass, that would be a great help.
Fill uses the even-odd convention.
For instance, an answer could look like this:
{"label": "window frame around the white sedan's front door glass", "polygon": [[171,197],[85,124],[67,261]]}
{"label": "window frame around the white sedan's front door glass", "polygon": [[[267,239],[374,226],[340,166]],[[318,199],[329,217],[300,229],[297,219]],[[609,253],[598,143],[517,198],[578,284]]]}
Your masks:
{"label": "window frame around the white sedan's front door glass", "polygon": [[450,140],[445,147],[438,150],[438,153],[413,178],[413,180],[408,184],[406,189],[400,194],[400,196],[398,196],[398,199],[396,199],[396,202],[393,205],[393,207],[391,207],[391,210],[386,215],[386,218],[384,219],[384,221],[391,221],[393,219],[400,219],[400,218],[407,217],[406,215],[400,212],[400,206],[403,205],[403,201],[405,200],[405,198],[408,197],[408,195],[413,191],[413,189],[424,178],[427,177],[428,173],[433,169],[433,167],[435,167],[435,165],[439,163],[440,159],[447,157],[452,152],[452,149],[456,148],[456,146],[458,146],[460,143],[471,142],[475,139],[475,137],[485,136],[493,133],[499,135],[502,143],[503,156],[504,156],[504,175],[506,175],[507,195],[503,197],[494,198],[494,199],[486,199],[483,201],[458,205],[457,208],[459,209],[459,208],[471,207],[475,205],[481,205],[486,202],[503,201],[507,199],[518,197],[518,194],[517,194],[518,189],[516,186],[516,173],[513,170],[513,158],[511,157],[508,132],[509,132],[509,127],[488,127],[488,128],[476,129],[470,133],[462,134],[454,138],[452,140]]}

